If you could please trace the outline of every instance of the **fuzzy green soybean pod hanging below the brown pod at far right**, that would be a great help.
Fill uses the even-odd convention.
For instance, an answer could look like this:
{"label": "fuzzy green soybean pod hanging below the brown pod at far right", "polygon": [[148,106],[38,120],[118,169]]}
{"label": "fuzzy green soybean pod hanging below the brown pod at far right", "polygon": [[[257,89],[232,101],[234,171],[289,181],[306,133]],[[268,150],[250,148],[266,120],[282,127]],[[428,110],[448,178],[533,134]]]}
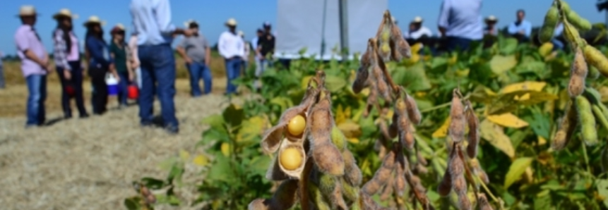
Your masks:
{"label": "fuzzy green soybean pod hanging below the brown pod at far right", "polygon": [[580,134],[587,145],[597,144],[597,130],[595,130],[595,116],[591,110],[589,100],[583,96],[576,97],[576,112],[580,121]]}

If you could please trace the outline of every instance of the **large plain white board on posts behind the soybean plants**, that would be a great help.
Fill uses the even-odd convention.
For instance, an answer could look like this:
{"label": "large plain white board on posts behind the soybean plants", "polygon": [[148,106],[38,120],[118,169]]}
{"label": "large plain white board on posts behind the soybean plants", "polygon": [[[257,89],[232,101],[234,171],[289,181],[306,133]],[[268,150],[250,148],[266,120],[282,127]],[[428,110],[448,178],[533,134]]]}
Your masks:
{"label": "large plain white board on posts behind the soybean plants", "polygon": [[[327,2],[325,2],[327,1]],[[323,40],[323,8],[326,4],[325,51],[321,58]],[[348,0],[348,49],[350,58],[362,53],[367,40],[376,35],[382,15],[388,7],[387,0]],[[277,37],[275,56],[299,58],[299,51],[306,48],[304,56],[316,59],[340,58],[340,17],[338,0],[278,1]]]}

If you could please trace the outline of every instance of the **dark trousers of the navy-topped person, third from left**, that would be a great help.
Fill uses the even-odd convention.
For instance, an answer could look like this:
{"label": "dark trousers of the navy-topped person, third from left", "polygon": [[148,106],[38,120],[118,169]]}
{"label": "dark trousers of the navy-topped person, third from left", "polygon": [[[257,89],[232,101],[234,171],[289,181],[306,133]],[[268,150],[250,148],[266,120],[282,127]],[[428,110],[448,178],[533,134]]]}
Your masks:
{"label": "dark trousers of the navy-topped person, third from left", "polygon": [[93,113],[95,114],[102,114],[107,111],[107,84],[105,83],[107,71],[106,68],[89,68],[89,76],[93,84],[93,96],[91,100],[93,102]]}

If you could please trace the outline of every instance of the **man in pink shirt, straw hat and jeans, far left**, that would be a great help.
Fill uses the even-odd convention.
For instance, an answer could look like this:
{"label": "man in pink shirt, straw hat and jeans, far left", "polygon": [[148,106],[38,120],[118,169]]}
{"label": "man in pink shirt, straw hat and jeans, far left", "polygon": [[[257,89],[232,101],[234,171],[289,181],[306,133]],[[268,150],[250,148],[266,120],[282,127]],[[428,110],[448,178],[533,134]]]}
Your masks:
{"label": "man in pink shirt, straw hat and jeans, far left", "polygon": [[51,71],[49,55],[44,49],[40,36],[36,32],[36,9],[34,6],[21,6],[19,18],[22,25],[15,33],[17,54],[21,59],[21,72],[28,84],[28,120],[26,128],[44,124],[44,100],[47,97],[47,73]]}

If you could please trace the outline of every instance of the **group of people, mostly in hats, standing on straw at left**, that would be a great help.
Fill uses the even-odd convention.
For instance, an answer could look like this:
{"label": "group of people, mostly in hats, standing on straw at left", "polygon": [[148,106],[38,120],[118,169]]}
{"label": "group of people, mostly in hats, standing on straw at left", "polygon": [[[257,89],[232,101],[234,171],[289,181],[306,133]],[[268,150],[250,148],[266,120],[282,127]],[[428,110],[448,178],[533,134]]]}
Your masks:
{"label": "group of people, mostly in hats, standing on straw at left", "polygon": [[[209,68],[210,44],[199,32],[196,21],[186,22],[186,28],[172,24],[169,0],[131,0],[130,11],[133,32],[129,43],[126,42],[124,25],[112,27],[112,40],[106,42],[102,30],[105,21],[97,16],[85,21],[85,58],[81,58],[78,37],[73,32],[72,20],[76,16],[68,9],[54,14],[57,22],[52,33],[54,71],[59,75],[63,89],[61,104],[64,118],[72,117],[71,99],[76,100],[80,118],[89,117],[83,99],[83,71],[86,68],[92,84],[93,114],[101,115],[107,111],[106,82],[108,77],[113,77],[119,83],[119,108],[127,105],[127,87],[136,85],[141,126],[154,125],[153,101],[157,96],[162,109],[162,127],[169,133],[177,133],[179,121],[175,116],[174,104],[176,63],[171,44],[177,35],[184,36],[176,50],[189,69],[193,97],[208,94],[213,87]],[[44,125],[47,74],[53,71],[49,54],[35,30],[37,16],[33,6],[22,6],[18,14],[22,25],[15,34],[17,54],[29,92],[26,128]],[[217,48],[225,61],[228,78],[226,94],[235,94],[237,87],[232,81],[242,74],[242,68],[249,60],[249,51],[252,50],[244,39],[244,33],[236,31],[237,21],[234,18],[227,20],[225,25],[228,30],[220,35]],[[251,42],[256,54],[256,78],[270,65],[269,56],[273,54],[275,46],[275,36],[270,29],[270,23],[265,23],[263,30],[258,30],[258,36]],[[83,59],[85,65],[81,62]],[[201,79],[205,84],[204,91],[198,85]]]}

